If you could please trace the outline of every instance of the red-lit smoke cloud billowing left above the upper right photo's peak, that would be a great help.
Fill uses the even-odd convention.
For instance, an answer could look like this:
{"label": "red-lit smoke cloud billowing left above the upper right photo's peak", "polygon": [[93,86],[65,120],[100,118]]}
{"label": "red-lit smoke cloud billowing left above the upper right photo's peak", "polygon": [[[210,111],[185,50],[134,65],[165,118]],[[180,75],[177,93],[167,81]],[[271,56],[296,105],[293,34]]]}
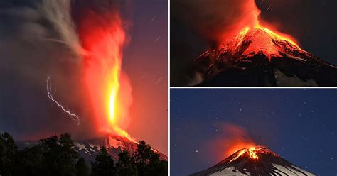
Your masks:
{"label": "red-lit smoke cloud billowing left above the upper right photo's peak", "polygon": [[171,9],[172,16],[216,43],[245,26],[253,26],[260,13],[254,0],[173,0]]}

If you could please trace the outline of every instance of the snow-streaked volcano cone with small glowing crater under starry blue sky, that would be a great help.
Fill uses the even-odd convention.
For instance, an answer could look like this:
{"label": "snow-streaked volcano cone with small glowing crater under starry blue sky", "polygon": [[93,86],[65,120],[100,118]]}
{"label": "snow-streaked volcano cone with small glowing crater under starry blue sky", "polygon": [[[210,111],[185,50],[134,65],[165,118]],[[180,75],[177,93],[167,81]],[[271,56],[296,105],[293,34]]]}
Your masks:
{"label": "snow-streaked volcano cone with small glowing crater under starry blue sky", "polygon": [[262,146],[243,148],[207,170],[191,176],[206,175],[314,175],[296,167]]}

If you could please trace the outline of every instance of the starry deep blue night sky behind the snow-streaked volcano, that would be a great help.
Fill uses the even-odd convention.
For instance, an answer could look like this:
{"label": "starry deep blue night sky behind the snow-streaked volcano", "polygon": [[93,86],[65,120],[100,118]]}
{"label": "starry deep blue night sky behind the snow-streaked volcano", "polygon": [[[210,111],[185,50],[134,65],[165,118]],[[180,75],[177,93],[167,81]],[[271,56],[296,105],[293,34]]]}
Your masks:
{"label": "starry deep blue night sky behind the snow-streaked volcano", "polygon": [[171,175],[225,159],[224,125],[309,172],[337,174],[337,89],[171,89]]}

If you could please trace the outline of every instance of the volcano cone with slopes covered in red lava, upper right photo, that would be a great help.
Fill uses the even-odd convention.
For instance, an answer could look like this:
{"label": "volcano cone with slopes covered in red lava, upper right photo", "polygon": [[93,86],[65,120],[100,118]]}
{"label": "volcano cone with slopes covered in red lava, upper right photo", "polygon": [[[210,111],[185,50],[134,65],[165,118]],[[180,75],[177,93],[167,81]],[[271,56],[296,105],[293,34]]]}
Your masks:
{"label": "volcano cone with slopes covered in red lava, upper right photo", "polygon": [[337,67],[267,28],[244,28],[193,65],[196,86],[336,86]]}

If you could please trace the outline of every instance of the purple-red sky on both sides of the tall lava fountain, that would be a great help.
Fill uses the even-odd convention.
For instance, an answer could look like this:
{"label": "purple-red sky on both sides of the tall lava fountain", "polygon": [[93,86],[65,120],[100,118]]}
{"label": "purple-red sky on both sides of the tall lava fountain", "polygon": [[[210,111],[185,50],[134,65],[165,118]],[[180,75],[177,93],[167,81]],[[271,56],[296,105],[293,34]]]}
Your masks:
{"label": "purple-red sky on both sides of the tall lava fountain", "polygon": [[[87,111],[91,107],[85,99],[82,63],[64,45],[46,40],[58,35],[36,12],[37,1],[0,1],[0,131],[8,131],[16,140],[65,132],[90,138],[95,129]],[[95,0],[95,4],[103,1],[112,0]],[[81,8],[95,8],[90,1],[74,2],[75,23],[82,16]],[[133,98],[126,130],[167,155],[168,1],[120,2],[129,38],[122,70],[129,76]],[[57,90],[55,99],[80,116],[80,126],[48,99],[47,75]]]}

